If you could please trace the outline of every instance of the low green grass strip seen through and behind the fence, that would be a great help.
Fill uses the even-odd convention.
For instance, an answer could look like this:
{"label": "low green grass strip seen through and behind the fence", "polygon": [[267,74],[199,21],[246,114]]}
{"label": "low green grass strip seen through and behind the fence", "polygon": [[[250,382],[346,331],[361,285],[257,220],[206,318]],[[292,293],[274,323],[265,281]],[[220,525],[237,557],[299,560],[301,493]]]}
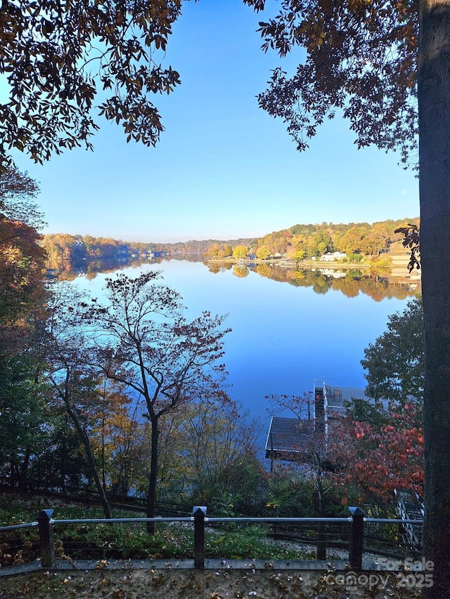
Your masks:
{"label": "low green grass strip seen through and behind the fence", "polygon": [[[42,508],[56,506],[56,520],[103,518],[101,508],[77,503],[54,502],[19,495],[0,495],[1,525],[33,522]],[[115,511],[115,518],[136,518],[136,513]],[[158,524],[148,534],[144,523],[82,523],[54,525],[56,558],[67,560],[148,560],[192,559],[193,525],[191,522]],[[270,543],[266,529],[254,525],[226,525],[205,531],[207,558],[299,560],[310,558],[295,548]],[[39,557],[37,528],[14,529],[0,534],[0,563],[13,565]]]}

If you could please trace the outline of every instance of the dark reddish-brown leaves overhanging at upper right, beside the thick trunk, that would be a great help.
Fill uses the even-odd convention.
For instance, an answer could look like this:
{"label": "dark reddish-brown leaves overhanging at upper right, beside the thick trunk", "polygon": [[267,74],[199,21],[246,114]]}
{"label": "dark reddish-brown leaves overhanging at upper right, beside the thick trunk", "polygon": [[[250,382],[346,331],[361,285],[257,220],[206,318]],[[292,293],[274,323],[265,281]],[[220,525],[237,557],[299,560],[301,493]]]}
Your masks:
{"label": "dark reddish-brown leaves overhanging at upper right, beside the thick trunk", "polygon": [[[244,0],[262,11],[265,0]],[[281,67],[258,96],[259,106],[288,126],[298,150],[317,126],[342,112],[358,147],[400,150],[408,162],[418,133],[418,11],[409,0],[282,0],[259,23],[262,48],[279,55],[304,48],[289,77]]]}

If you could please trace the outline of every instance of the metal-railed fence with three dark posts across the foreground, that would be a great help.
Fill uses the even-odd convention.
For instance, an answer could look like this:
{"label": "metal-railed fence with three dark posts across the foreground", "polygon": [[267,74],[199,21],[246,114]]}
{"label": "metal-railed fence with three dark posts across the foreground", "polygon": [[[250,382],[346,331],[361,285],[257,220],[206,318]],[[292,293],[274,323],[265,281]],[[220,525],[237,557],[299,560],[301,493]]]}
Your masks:
{"label": "metal-railed fence with three dark posts across the foreground", "polygon": [[[193,558],[193,567],[202,569],[205,560],[226,558],[233,560],[233,555],[217,555],[213,553],[210,544],[205,541],[205,532],[210,534],[231,534],[236,532],[236,527],[257,526],[264,530],[264,538],[272,543],[289,544],[298,548],[299,553],[308,560],[345,560],[352,570],[361,570],[363,558],[373,555],[375,560],[390,560],[398,562],[405,558],[416,559],[420,556],[420,540],[423,520],[410,519],[383,519],[366,518],[361,508],[349,508],[348,518],[210,518],[207,508],[195,506],[191,516],[169,518],[96,518],[76,520],[53,519],[53,510],[41,510],[35,522],[13,526],[0,527],[0,562],[5,567],[34,562],[40,558],[40,565],[44,568],[55,567],[61,558],[60,541],[55,540],[55,531],[62,528],[66,531],[71,525],[88,529],[90,526],[106,527],[108,525],[124,525],[136,527],[148,525],[152,522],[156,526],[178,523],[193,532],[192,546],[188,551]],[[413,539],[416,543],[411,545],[409,539],[414,531]],[[174,529],[172,534],[179,534],[181,529]],[[102,546],[98,548],[98,555],[115,555],[120,558],[120,546],[115,543],[115,532],[111,529],[111,537],[103,537]],[[63,559],[82,559],[87,555],[86,541],[76,545],[65,544]],[[106,538],[106,541],[104,540]],[[267,544],[267,560],[271,558],[271,546]],[[92,546],[89,546],[89,555],[92,555]],[[94,548],[95,549],[95,548]],[[217,550],[216,550],[217,551]],[[70,557],[72,552],[73,559]],[[114,553],[115,552],[115,553]],[[3,558],[2,558],[3,555]],[[122,556],[123,557],[123,556]],[[252,559],[252,555],[248,555]],[[225,561],[225,560],[224,560]],[[393,569],[393,568],[392,568]],[[400,566],[399,566],[400,569]]]}

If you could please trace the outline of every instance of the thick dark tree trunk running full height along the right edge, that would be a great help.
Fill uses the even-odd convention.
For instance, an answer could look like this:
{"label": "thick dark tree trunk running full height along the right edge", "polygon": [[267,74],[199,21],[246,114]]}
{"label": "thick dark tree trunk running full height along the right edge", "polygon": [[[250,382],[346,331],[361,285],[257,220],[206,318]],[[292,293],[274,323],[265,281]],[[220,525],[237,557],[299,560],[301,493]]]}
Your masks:
{"label": "thick dark tree trunk running full height along the right edge", "polygon": [[425,333],[424,557],[427,599],[449,596],[450,553],[450,1],[420,1],[420,259]]}

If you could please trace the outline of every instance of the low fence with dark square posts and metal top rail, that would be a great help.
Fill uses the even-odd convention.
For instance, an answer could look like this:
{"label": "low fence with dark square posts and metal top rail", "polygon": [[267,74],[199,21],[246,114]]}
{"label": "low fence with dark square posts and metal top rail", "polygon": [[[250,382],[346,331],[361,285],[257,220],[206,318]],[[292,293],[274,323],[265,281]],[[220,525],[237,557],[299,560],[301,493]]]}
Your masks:
{"label": "low fence with dark square posts and metal top rail", "polygon": [[[128,525],[139,524],[155,525],[162,523],[186,524],[191,529],[193,527],[193,562],[195,569],[201,570],[205,567],[205,558],[209,557],[205,552],[209,551],[207,543],[205,544],[205,529],[217,530],[220,532],[233,530],[235,525],[263,525],[266,537],[274,539],[274,542],[282,541],[287,543],[292,541],[296,544],[314,546],[316,548],[316,559],[329,559],[330,548],[336,548],[340,552],[340,558],[348,563],[352,570],[362,569],[362,560],[364,552],[373,553],[378,556],[388,556],[389,558],[399,558],[408,551],[409,557],[413,558],[420,555],[420,544],[422,539],[423,520],[390,519],[390,518],[366,518],[361,508],[349,508],[351,515],[347,518],[238,518],[238,517],[209,517],[205,506],[194,506],[191,516],[186,517],[156,517],[156,518],[75,518],[57,520],[53,519],[53,510],[41,510],[35,522],[20,523],[18,525],[0,527],[0,547],[3,551],[8,551],[11,560],[4,565],[15,565],[23,563],[25,549],[30,551],[30,561],[39,558],[41,567],[53,568],[56,562],[61,558],[61,541],[55,541],[54,530],[59,527],[70,527],[70,525],[79,525],[83,529],[89,529],[89,525],[98,525],[108,527],[108,525]],[[231,527],[231,528],[230,528]],[[13,531],[18,529],[36,529],[39,539],[36,539],[32,533],[26,532],[27,538],[18,539],[14,537]],[[105,528],[108,530],[108,528]],[[181,529],[176,529],[181,530]],[[174,534],[176,534],[176,530]],[[12,534],[11,534],[12,533]],[[191,533],[192,534],[192,533]],[[3,535],[3,537],[2,537]],[[31,535],[31,536],[30,536]],[[74,541],[75,542],[75,541]],[[59,544],[59,545],[58,545]],[[111,546],[111,545],[109,545]],[[84,551],[87,551],[84,545]],[[117,550],[118,551],[118,550]],[[35,554],[33,558],[32,555]],[[83,544],[79,546],[79,552],[83,552]],[[270,546],[268,545],[270,554]],[[86,553],[85,553],[86,554]],[[18,559],[18,557],[20,560]],[[232,556],[219,556],[233,559]],[[63,559],[68,559],[75,564],[75,560],[67,555]],[[252,558],[252,555],[248,555]],[[226,560],[224,560],[225,562]],[[401,560],[399,560],[401,563]]]}

